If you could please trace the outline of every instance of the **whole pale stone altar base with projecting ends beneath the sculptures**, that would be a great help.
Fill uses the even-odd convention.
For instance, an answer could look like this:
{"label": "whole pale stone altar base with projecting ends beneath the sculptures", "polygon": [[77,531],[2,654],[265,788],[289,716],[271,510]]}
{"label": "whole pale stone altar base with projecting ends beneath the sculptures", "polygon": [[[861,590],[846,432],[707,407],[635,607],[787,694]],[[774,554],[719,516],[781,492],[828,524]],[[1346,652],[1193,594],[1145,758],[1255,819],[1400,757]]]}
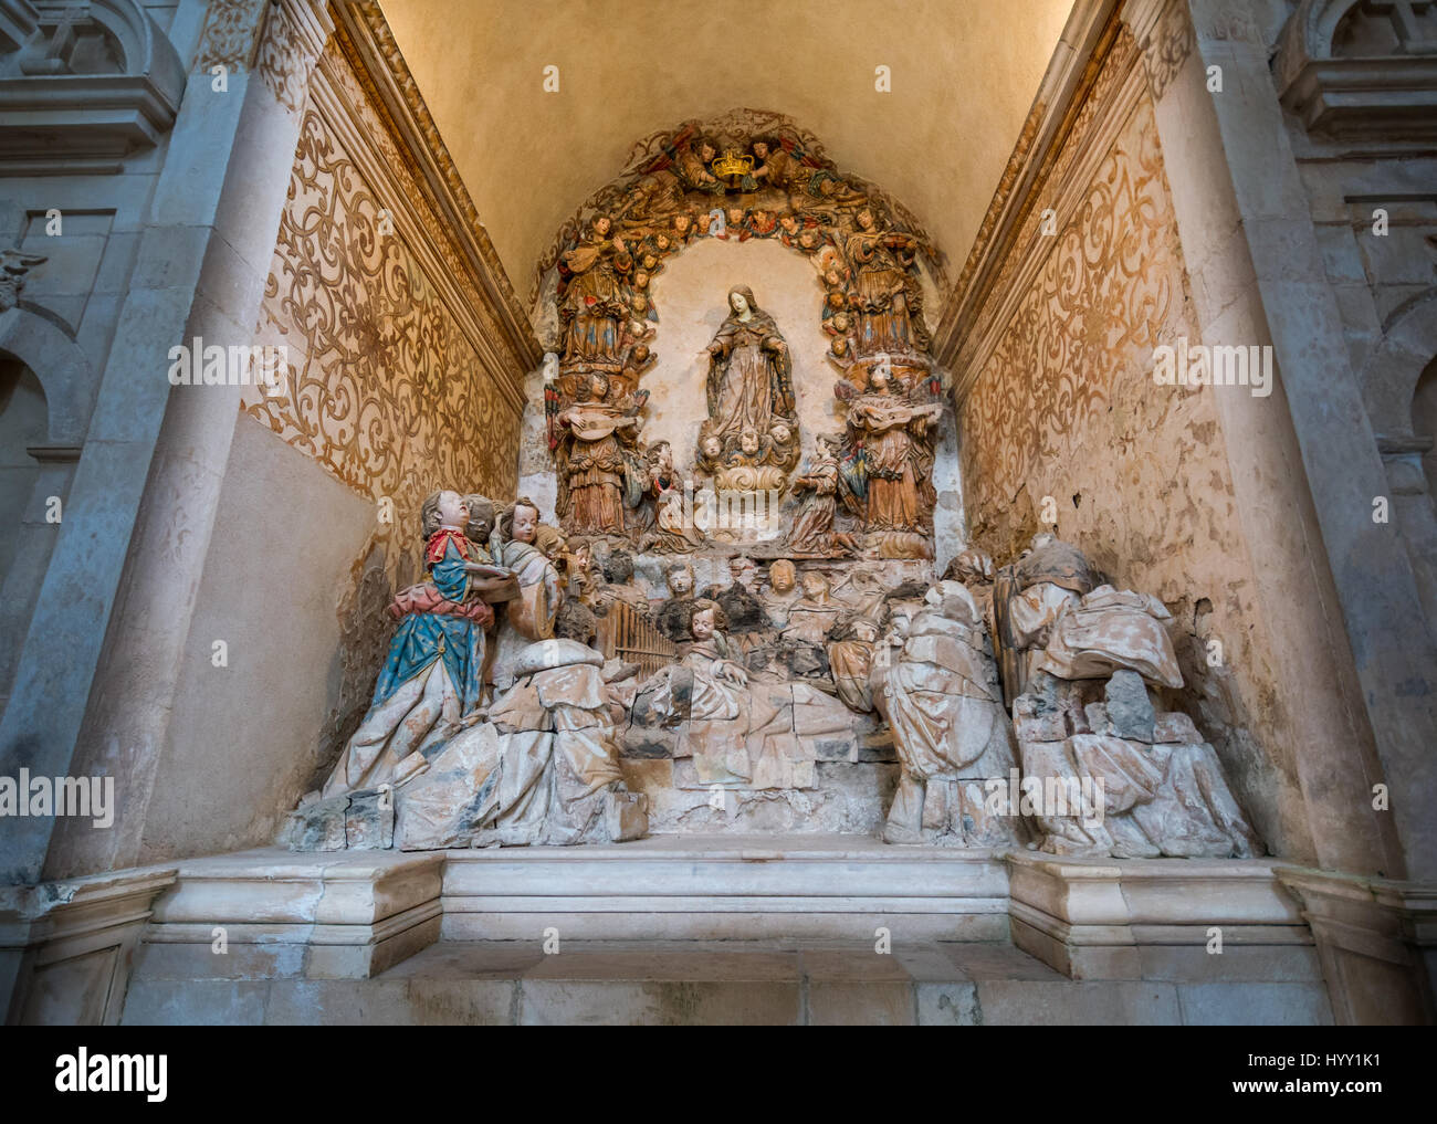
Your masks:
{"label": "whole pale stone altar base with projecting ends beneath the sculptures", "polygon": [[172,868],[124,1022],[1331,1022],[1279,870],[854,835],[267,848]]}

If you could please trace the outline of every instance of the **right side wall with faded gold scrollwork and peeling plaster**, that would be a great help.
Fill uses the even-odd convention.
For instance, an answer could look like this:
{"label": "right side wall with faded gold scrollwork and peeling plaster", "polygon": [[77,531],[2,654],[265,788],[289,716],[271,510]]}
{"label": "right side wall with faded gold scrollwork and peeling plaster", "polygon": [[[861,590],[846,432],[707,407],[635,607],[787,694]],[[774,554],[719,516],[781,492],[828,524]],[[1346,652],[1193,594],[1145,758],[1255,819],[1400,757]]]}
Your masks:
{"label": "right side wall with faded gold scrollwork and peeling plaster", "polygon": [[[1275,854],[1305,854],[1277,674],[1216,395],[1154,349],[1204,341],[1135,45],[1117,46],[971,328],[958,433],[974,545],[1002,565],[1042,525],[1175,618],[1190,711]],[[1099,108],[1101,106],[1101,108]],[[1050,208],[1050,210],[1049,210]]]}

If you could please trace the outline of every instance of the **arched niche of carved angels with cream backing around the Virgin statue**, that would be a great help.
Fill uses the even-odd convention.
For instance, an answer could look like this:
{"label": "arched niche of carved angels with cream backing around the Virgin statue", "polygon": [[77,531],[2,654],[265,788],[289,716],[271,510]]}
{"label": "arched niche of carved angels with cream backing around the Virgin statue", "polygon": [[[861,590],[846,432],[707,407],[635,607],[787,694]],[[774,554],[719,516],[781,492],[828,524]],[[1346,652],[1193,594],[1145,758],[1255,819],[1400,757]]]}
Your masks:
{"label": "arched niche of carved angels with cream backing around the Virgin statue", "polygon": [[[570,536],[642,549],[611,493],[622,489],[632,506],[658,443],[668,443],[685,477],[697,470],[720,490],[757,477],[767,483],[744,487],[786,494],[800,454],[812,457],[818,437],[831,434],[842,443],[844,510],[856,519],[867,555],[931,559],[934,482],[953,474],[935,463],[944,424],[951,431],[930,354],[941,276],[941,254],[914,216],[836,170],[815,138],[780,115],[731,111],[645,138],[628,171],[591,195],[539,263],[535,322],[553,355],[542,382],[553,479],[545,479],[543,459],[529,461],[522,490],[553,496]],[[764,349],[779,356],[775,368],[790,369],[772,374],[770,385],[790,379],[798,400],[792,414],[785,405],[780,417],[776,407],[772,421],[756,423],[762,451],[760,434],[754,447],[747,434],[739,440],[713,390],[727,378],[718,372],[727,352],[711,361],[708,348],[731,325],[737,286],[752,287],[760,313],[775,318],[764,321],[776,329]],[[901,433],[912,438],[905,480],[917,483],[900,487],[915,486],[918,496],[895,500],[892,516],[887,499],[874,497],[887,496],[897,477],[875,460],[869,414],[849,408],[859,401],[914,411]],[[581,415],[599,414],[619,420],[614,437],[581,438]],[[798,441],[789,443],[795,425]],[[785,448],[792,451],[780,456]],[[602,484],[588,467],[570,467],[599,461]],[[576,483],[583,499],[575,506],[569,484],[581,480],[589,483]],[[951,513],[956,486],[944,490]]]}

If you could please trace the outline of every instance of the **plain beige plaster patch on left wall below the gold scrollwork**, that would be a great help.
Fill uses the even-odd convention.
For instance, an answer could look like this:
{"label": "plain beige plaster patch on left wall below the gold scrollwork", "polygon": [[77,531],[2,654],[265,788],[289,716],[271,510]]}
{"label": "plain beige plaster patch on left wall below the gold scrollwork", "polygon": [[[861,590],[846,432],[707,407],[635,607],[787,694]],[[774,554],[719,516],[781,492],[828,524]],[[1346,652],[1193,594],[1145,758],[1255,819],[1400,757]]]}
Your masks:
{"label": "plain beige plaster patch on left wall below the gold scrollwork", "polygon": [[[374,505],[236,420],[141,864],[274,839],[325,755],[341,680],[336,607],[372,528]],[[216,641],[227,665],[214,665]]]}

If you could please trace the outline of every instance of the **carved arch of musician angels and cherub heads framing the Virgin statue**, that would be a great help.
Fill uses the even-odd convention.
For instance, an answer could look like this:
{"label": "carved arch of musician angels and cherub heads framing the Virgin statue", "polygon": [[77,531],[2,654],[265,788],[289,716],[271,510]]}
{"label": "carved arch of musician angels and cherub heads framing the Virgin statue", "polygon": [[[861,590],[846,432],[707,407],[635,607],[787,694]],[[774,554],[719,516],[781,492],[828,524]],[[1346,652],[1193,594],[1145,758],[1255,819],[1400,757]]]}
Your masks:
{"label": "carved arch of musician angels and cherub heads framing the Virgin statue", "polygon": [[[652,392],[641,384],[661,369],[650,344],[664,346],[664,315],[651,283],[690,247],[720,241],[776,241],[806,260],[803,270],[822,298],[813,313],[822,341],[819,369],[832,368],[826,379],[815,368],[808,377],[826,384],[822,397],[841,402],[846,424],[836,459],[848,510],[874,556],[931,558],[941,428],[931,423],[951,417],[924,315],[943,285],[941,254],[907,207],[841,170],[816,137],[782,114],[754,109],[685,121],[638,141],[625,171],[579,206],[536,263],[535,321],[558,359],[543,394],[560,528],[570,538],[627,542],[641,533],[644,516],[627,516],[621,500],[639,510],[648,487],[645,470],[634,466],[651,454],[638,446]],[[799,282],[789,285],[796,289]],[[762,308],[760,313],[766,315]],[[707,417],[694,434],[693,463],[723,494],[762,493],[764,510],[776,513],[812,434],[799,424],[790,341],[773,322],[763,331],[766,356],[777,358],[762,359],[766,374],[750,367],[740,375],[741,394],[753,395],[753,378],[767,379],[772,411],[756,408],[757,421],[744,423],[741,431],[727,424],[737,414],[721,405],[716,361],[706,359]],[[700,354],[720,354],[713,348],[707,342]],[[726,365],[727,359],[718,362]],[[717,381],[731,385],[729,377],[720,374]],[[855,401],[871,405],[877,398],[914,411],[904,415],[900,438],[914,470],[898,483],[878,470],[868,473],[864,450],[874,415],[867,407],[849,410]],[[609,418],[619,421],[605,428]],[[621,428],[628,433],[619,434]],[[604,467],[595,469],[599,460]],[[581,492],[570,492],[570,480]],[[585,497],[582,509],[575,494]],[[776,515],[766,519],[764,543],[782,530],[779,522]]]}

